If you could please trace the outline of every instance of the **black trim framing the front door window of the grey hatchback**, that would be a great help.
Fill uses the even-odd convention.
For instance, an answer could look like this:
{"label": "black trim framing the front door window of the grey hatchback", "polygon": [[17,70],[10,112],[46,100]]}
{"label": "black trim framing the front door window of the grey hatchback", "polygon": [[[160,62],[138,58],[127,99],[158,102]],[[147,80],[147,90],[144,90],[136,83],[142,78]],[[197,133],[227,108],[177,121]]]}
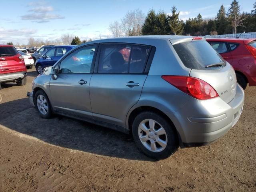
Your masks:
{"label": "black trim framing the front door window of the grey hatchback", "polygon": [[[96,46],[95,48],[95,53],[93,55],[93,58],[92,58],[92,66],[91,66],[91,69],[90,69],[90,73],[59,73],[60,71],[60,63],[62,62],[62,60],[64,60],[67,56],[69,56],[70,54],[74,53],[76,50],[79,50],[79,49],[82,49],[84,47],[88,47],[88,46]],[[95,60],[96,60],[96,55],[98,53],[98,48],[99,48],[99,44],[98,43],[93,43],[93,44],[87,44],[87,45],[84,45],[84,46],[81,46],[81,47],[78,47],[78,48],[75,48],[75,49],[71,49],[72,51],[69,52],[68,54],[66,54],[60,61],[56,62],[56,64],[54,64],[53,68],[58,65],[58,70],[56,72],[57,75],[73,75],[73,74],[93,74],[93,71],[94,71],[94,66],[95,66]]]}

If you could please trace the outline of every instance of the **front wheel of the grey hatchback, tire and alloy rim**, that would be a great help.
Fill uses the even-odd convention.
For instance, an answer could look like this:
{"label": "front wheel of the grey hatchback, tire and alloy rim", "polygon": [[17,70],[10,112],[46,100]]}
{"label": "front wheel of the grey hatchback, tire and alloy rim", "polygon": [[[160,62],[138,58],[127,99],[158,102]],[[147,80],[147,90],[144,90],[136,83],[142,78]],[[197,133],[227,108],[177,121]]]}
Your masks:
{"label": "front wheel of the grey hatchback, tire and alloy rim", "polygon": [[52,108],[48,96],[43,90],[38,90],[34,96],[34,104],[42,118],[52,117]]}

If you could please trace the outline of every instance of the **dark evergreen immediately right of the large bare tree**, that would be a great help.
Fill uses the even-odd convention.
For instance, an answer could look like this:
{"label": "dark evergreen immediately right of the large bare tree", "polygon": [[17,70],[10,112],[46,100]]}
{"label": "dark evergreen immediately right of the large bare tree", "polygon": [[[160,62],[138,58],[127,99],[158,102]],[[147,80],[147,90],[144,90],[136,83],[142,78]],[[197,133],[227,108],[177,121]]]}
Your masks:
{"label": "dark evergreen immediately right of the large bare tree", "polygon": [[149,10],[148,15],[142,26],[143,35],[154,35],[156,34],[156,12],[154,9]]}

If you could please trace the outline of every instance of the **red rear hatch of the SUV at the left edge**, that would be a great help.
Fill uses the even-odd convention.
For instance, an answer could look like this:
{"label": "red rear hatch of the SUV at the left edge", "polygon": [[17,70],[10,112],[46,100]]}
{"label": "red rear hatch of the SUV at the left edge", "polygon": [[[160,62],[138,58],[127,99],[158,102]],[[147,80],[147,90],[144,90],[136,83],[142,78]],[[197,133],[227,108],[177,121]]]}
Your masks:
{"label": "red rear hatch of the SUV at the left edge", "polygon": [[13,46],[0,46],[0,74],[26,71],[24,60]]}

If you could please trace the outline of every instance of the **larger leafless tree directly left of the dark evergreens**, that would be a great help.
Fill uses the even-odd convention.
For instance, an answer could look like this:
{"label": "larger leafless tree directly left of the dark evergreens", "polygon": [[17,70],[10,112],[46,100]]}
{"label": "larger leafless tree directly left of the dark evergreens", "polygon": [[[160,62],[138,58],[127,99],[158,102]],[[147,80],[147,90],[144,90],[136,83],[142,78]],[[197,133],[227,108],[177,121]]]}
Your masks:
{"label": "larger leafless tree directly left of the dark evergreens", "polygon": [[145,14],[142,10],[136,9],[128,11],[121,19],[122,30],[125,36],[142,35],[142,25],[145,20]]}

